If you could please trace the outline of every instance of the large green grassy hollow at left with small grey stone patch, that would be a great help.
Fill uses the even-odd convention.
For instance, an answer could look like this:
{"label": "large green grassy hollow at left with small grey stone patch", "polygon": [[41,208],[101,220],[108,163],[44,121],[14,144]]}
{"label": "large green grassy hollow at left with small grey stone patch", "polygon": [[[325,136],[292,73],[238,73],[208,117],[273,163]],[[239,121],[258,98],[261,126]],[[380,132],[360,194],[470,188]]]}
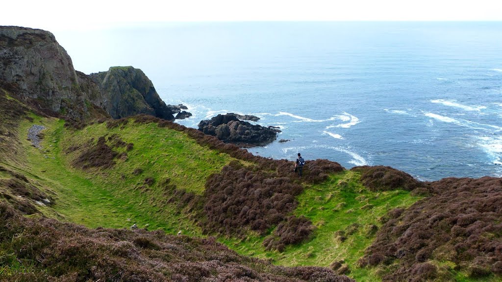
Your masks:
{"label": "large green grassy hollow at left with small grey stone patch", "polygon": [[[45,138],[43,150],[30,146],[21,136],[24,148],[23,166],[4,164],[11,170],[26,175],[39,187],[50,187],[47,192],[56,198],[53,209],[42,207],[48,216],[68,220],[88,227],[124,228],[133,225],[162,228],[168,233],[201,235],[200,229],[176,203],[166,203],[164,191],[158,185],[147,187],[144,180],[154,178],[156,184],[166,178],[178,189],[202,193],[205,179],[232,159],[226,154],[201,147],[184,133],[157,124],[129,124],[124,129],[106,129],[95,124],[83,130],[69,130],[62,120],[33,115],[33,122],[24,121],[19,131],[28,131],[33,124],[42,124]],[[108,170],[88,172],[72,168],[72,160],[80,154],[65,154],[65,148],[97,139],[106,133],[117,133],[127,143],[134,143],[126,161],[118,160]],[[132,172],[144,172],[134,176]],[[124,177],[122,177],[122,175]]]}

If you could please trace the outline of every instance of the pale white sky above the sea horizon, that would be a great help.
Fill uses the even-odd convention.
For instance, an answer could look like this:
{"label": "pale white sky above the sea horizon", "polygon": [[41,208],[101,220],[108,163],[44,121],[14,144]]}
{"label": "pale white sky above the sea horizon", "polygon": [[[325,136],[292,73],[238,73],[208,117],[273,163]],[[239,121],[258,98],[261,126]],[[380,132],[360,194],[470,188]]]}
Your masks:
{"label": "pale white sky above the sea horizon", "polygon": [[500,0],[25,0],[0,25],[50,31],[235,21],[502,21]]}

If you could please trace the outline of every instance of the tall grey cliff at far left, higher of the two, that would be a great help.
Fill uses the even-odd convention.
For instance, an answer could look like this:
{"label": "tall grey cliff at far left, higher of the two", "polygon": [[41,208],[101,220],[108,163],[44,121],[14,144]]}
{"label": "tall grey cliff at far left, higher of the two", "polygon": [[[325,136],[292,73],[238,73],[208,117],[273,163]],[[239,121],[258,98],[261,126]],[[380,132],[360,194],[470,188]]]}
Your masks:
{"label": "tall grey cliff at far left, higher of the two", "polygon": [[50,32],[0,27],[0,80],[17,83],[39,108],[73,118],[88,114],[71,58]]}

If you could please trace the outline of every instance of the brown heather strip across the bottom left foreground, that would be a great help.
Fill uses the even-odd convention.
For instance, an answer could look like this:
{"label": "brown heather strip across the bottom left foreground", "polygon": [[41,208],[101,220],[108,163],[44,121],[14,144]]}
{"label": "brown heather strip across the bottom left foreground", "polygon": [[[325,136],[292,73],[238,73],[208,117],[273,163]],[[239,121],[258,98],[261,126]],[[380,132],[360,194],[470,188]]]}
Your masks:
{"label": "brown heather strip across the bottom left foreground", "polygon": [[22,217],[0,203],[3,281],[353,281],[322,267],[283,267],[240,256],[213,238],[88,229]]}

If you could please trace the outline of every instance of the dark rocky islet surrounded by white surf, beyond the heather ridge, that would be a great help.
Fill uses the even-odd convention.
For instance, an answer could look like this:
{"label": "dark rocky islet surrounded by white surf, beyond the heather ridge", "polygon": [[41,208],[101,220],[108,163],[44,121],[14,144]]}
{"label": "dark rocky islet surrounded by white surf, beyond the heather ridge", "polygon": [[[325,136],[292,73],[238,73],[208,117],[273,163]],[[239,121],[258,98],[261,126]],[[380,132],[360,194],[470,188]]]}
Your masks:
{"label": "dark rocky islet surrounded by white surf, beyond the heather ridge", "polygon": [[218,114],[217,116],[202,120],[199,130],[216,136],[225,143],[233,143],[242,147],[263,146],[273,142],[281,130],[253,125],[241,121],[234,113]]}

